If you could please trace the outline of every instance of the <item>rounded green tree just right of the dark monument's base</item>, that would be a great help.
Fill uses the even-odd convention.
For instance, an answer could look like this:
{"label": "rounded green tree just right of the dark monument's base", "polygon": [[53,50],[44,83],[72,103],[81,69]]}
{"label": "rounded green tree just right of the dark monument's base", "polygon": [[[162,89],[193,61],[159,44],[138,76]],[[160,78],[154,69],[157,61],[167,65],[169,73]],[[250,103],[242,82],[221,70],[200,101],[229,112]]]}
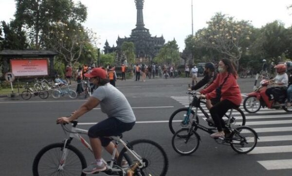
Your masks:
{"label": "rounded green tree just right of the dark monument's base", "polygon": [[176,40],[174,39],[164,44],[164,47],[159,50],[159,53],[153,59],[153,61],[160,64],[167,63],[178,65],[180,58],[179,47]]}

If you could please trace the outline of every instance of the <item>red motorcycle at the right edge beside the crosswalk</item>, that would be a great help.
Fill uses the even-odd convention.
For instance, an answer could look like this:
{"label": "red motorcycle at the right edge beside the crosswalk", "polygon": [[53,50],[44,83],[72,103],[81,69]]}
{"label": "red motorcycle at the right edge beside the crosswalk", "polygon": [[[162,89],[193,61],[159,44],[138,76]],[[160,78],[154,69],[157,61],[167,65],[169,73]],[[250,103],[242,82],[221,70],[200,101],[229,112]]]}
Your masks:
{"label": "red motorcycle at the right edge beside the crosswalk", "polygon": [[292,112],[292,106],[286,105],[287,94],[281,94],[277,100],[269,100],[268,95],[266,95],[266,90],[270,82],[263,79],[253,92],[248,93],[247,97],[243,101],[243,108],[249,113],[256,113],[261,107],[266,106],[269,109],[280,109],[282,108],[286,112]]}

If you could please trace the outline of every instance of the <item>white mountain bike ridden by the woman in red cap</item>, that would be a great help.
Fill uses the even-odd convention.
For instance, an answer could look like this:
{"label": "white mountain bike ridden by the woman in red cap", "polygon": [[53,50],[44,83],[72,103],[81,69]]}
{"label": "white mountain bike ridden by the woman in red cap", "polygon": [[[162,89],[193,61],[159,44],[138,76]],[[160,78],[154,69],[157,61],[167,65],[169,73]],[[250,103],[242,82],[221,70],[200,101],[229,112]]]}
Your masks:
{"label": "white mountain bike ridden by the woman in red cap", "polygon": [[[82,169],[87,167],[83,154],[71,144],[73,138],[80,141],[92,152],[91,145],[85,141],[80,134],[87,134],[88,130],[76,128],[78,122],[71,122],[71,130],[65,124],[61,124],[65,134],[69,132],[69,138],[61,143],[53,143],[42,148],[33,162],[33,175],[78,175],[85,176]],[[67,135],[67,134],[66,134]],[[165,176],[168,169],[168,158],[164,149],[156,142],[140,139],[131,142],[123,141],[122,135],[110,136],[115,141],[115,149],[110,161],[103,162],[107,170],[102,171],[108,175],[119,176]],[[118,144],[124,148],[115,159]],[[140,151],[144,150],[144,151]],[[149,152],[150,151],[150,152]],[[142,154],[142,155],[141,155]],[[152,158],[151,158],[152,157]],[[162,161],[160,161],[161,159]],[[126,160],[128,166],[122,167],[122,162]]]}

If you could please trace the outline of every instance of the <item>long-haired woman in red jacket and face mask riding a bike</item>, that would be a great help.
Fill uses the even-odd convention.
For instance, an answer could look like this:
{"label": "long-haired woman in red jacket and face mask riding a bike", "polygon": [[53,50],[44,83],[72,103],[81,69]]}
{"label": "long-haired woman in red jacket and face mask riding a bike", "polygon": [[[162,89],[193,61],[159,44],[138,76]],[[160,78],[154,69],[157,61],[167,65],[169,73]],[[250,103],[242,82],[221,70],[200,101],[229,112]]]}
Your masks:
{"label": "long-haired woman in red jacket and face mask riding a bike", "polygon": [[210,109],[210,114],[218,129],[218,132],[211,134],[212,138],[224,137],[222,128],[225,127],[225,123],[222,117],[229,109],[239,107],[242,100],[234,64],[229,59],[222,59],[219,62],[218,71],[216,80],[208,88],[200,91],[202,99],[220,98],[220,102]]}

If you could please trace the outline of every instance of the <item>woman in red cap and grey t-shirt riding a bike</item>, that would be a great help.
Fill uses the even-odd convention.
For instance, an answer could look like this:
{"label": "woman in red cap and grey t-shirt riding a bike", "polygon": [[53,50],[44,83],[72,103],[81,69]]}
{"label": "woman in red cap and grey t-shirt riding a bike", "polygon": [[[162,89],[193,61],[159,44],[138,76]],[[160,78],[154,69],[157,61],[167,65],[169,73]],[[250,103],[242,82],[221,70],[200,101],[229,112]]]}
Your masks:
{"label": "woman in red cap and grey t-shirt riding a bike", "polygon": [[[69,123],[83,114],[87,113],[100,104],[101,111],[108,115],[108,119],[101,121],[88,131],[91,147],[95,161],[83,173],[92,174],[106,170],[106,165],[102,162],[102,146],[111,154],[114,151],[114,143],[109,136],[118,136],[121,133],[132,129],[136,118],[128,100],[122,92],[109,83],[107,73],[100,68],[94,68],[91,73],[85,73],[85,77],[90,78],[90,82],[98,86],[87,102],[80,106],[71,117],[60,117],[57,123]],[[115,156],[118,158],[118,154]]]}

